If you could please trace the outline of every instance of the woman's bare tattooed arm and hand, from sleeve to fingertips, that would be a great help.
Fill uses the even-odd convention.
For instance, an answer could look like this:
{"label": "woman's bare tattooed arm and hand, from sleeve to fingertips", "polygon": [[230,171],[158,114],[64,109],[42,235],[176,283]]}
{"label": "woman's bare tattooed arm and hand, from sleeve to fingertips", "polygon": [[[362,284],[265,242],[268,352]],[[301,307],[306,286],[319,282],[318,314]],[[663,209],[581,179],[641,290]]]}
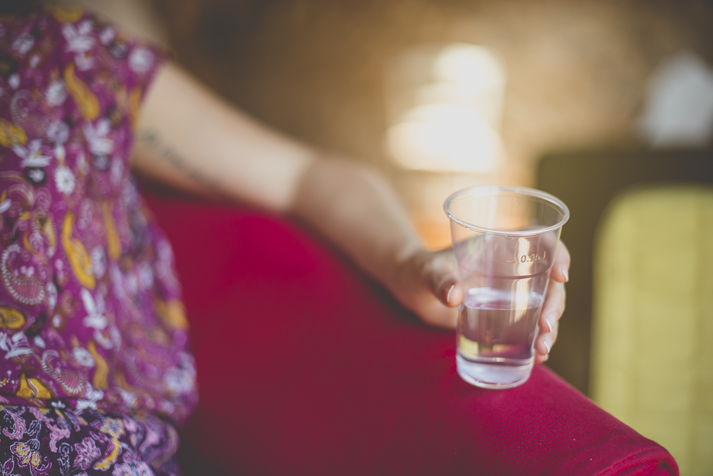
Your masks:
{"label": "woman's bare tattooed arm and hand, from sleeve to fingertips", "polygon": [[[270,130],[178,66],[158,73],[138,128],[133,166],[204,197],[302,219],[423,321],[452,328],[463,289],[450,250],[429,252],[376,172]],[[535,343],[544,361],[565,304],[569,254],[558,249]]]}

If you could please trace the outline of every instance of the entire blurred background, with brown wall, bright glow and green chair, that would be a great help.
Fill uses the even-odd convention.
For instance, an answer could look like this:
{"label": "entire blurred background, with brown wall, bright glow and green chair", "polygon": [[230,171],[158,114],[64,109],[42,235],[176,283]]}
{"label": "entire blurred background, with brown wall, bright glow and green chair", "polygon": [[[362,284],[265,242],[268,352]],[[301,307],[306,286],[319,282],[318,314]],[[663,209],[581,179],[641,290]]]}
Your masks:
{"label": "entire blurred background, with brown wall, bright glow and green chair", "polygon": [[713,1],[153,0],[175,58],[375,167],[434,249],[468,185],[570,206],[548,365],[713,470]]}

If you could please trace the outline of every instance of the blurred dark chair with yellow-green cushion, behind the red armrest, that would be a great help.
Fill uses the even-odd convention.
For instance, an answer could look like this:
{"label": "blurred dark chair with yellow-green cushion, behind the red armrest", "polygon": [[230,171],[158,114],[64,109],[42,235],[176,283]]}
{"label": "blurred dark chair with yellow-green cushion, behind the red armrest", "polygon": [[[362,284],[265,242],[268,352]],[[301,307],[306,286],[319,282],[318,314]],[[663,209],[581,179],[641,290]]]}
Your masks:
{"label": "blurred dark chair with yellow-green cushion, behind the red armrest", "polygon": [[548,365],[682,474],[713,474],[713,152],[548,155],[538,187],[571,213]]}

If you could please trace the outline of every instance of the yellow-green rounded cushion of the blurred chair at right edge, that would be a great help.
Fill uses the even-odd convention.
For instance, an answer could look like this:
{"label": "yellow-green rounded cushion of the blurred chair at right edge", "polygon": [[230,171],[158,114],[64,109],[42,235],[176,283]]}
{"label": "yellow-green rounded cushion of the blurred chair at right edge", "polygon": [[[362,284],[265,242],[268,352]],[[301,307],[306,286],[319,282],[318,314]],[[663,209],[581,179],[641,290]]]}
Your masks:
{"label": "yellow-green rounded cushion of the blurred chair at right edge", "polygon": [[590,396],[713,474],[713,186],[618,195],[594,250]]}

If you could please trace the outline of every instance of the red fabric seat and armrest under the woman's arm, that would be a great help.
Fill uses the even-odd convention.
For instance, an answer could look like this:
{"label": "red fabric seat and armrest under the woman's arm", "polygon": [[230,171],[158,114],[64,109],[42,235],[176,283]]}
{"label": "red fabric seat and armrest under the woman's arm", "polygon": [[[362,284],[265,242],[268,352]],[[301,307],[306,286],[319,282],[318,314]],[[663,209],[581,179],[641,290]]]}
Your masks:
{"label": "red fabric seat and armrest under the woman's arm", "polygon": [[420,324],[294,224],[148,202],[173,242],[198,361],[187,475],[678,474],[544,366],[511,390],[464,383],[453,332]]}

